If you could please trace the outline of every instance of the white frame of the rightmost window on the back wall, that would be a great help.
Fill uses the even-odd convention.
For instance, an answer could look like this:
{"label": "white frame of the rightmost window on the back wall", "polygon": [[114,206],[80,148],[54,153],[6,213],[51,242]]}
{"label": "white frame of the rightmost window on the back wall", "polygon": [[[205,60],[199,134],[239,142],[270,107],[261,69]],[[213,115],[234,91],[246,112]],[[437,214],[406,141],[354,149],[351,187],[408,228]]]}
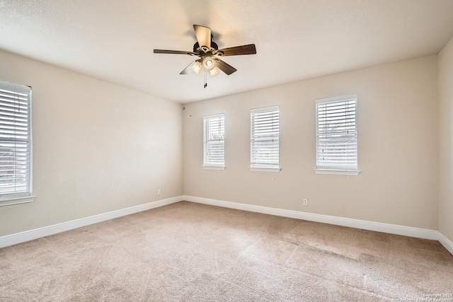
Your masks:
{"label": "white frame of the rightmost window on the back wall", "polygon": [[[326,163],[320,163],[319,162],[319,151],[320,149],[320,143],[319,143],[319,105],[324,105],[324,104],[341,104],[345,103],[348,101],[354,101],[354,118],[353,118],[353,137],[355,141],[353,144],[355,144],[355,161],[352,163],[352,167],[350,163],[347,161],[343,161],[343,163],[334,163],[331,165],[327,165]],[[358,169],[358,136],[357,136],[357,94],[350,94],[350,95],[341,95],[341,96],[336,96],[332,98],[319,98],[316,99],[316,113],[315,113],[315,122],[316,122],[316,168],[314,169],[314,172],[316,174],[333,174],[333,175],[359,175],[360,170]],[[345,104],[345,106],[348,104]],[[346,114],[346,111],[344,111]],[[343,112],[341,112],[343,113]],[[349,117],[346,117],[345,120],[348,120]],[[349,126],[350,127],[350,126]],[[340,132],[342,134],[348,134],[350,135],[350,129],[346,129],[344,132]],[[350,153],[348,153],[349,155]]]}

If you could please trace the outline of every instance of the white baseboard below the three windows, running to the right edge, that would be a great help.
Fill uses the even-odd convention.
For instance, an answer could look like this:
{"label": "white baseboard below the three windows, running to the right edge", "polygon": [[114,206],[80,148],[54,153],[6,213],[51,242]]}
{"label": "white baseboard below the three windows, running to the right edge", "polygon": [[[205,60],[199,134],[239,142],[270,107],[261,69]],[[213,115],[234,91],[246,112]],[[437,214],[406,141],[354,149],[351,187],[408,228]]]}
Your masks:
{"label": "white baseboard below the three windows, running to the right edge", "polygon": [[218,207],[226,207],[231,209],[240,209],[244,211],[253,211],[257,213],[284,216],[295,219],[304,219],[308,221],[316,221],[321,223],[335,224],[336,226],[349,226],[351,228],[362,228],[369,231],[377,231],[382,233],[391,233],[415,238],[423,238],[430,240],[438,240],[442,245],[453,254],[453,244],[440,231],[429,230],[426,228],[413,228],[411,226],[398,226],[396,224],[379,223],[373,221],[365,221],[359,219],[350,219],[337,216],[328,216],[321,214],[306,213],[302,211],[292,211],[285,209],[276,209],[270,207],[261,207],[253,204],[241,204],[238,202],[225,202],[223,200],[209,199],[202,197],[184,196],[184,200],[188,202],[197,202],[200,204],[210,204]]}

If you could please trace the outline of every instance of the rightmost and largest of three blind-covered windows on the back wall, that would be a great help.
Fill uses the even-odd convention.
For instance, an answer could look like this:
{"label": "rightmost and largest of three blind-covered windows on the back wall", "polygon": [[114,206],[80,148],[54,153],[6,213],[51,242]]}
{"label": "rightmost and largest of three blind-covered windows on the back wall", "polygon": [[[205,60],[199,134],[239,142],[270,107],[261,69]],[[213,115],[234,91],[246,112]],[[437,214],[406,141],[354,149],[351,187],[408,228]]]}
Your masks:
{"label": "rightmost and largest of three blind-covered windows on the back wall", "polygon": [[316,100],[316,173],[358,175],[357,95]]}

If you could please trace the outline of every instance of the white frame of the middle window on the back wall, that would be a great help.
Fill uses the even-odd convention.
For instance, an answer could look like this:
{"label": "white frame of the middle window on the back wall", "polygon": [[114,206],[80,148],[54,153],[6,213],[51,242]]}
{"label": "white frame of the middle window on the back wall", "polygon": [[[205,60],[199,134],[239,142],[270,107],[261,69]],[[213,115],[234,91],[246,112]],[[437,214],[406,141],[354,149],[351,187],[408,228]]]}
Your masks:
{"label": "white frame of the middle window on the back wall", "polygon": [[[268,163],[266,161],[256,161],[256,155],[253,154],[253,151],[256,150],[256,126],[254,125],[254,121],[256,120],[256,116],[259,114],[275,114],[277,112],[277,162],[276,163]],[[273,122],[274,123],[274,120]],[[272,137],[272,141],[274,144],[275,141],[275,133],[273,131],[272,135],[268,136]],[[272,146],[274,148],[275,146]],[[248,167],[251,171],[258,171],[258,172],[280,172],[282,170],[280,168],[280,105],[273,105],[261,108],[253,108],[250,110],[250,166]]]}

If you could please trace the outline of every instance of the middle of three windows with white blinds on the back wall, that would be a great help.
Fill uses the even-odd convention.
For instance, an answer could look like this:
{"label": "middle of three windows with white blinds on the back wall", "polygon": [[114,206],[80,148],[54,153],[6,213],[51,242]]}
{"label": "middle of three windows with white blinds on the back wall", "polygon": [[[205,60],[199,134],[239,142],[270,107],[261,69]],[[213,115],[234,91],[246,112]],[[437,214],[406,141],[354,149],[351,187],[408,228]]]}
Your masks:
{"label": "middle of three windows with white blinds on the back wall", "polygon": [[250,112],[250,170],[280,171],[278,106],[252,109]]}

